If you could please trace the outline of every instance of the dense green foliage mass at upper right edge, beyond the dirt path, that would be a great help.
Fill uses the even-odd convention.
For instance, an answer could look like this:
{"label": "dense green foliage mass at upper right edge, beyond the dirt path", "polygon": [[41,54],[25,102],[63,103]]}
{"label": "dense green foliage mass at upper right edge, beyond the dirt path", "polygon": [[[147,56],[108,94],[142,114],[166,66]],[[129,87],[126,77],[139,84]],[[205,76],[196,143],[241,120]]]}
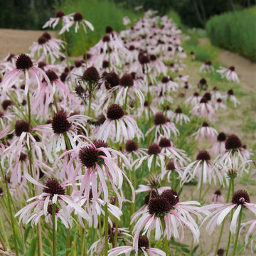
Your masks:
{"label": "dense green foliage mass at upper right edge, beyond the dirt path", "polygon": [[214,16],[206,31],[213,45],[256,61],[256,8]]}

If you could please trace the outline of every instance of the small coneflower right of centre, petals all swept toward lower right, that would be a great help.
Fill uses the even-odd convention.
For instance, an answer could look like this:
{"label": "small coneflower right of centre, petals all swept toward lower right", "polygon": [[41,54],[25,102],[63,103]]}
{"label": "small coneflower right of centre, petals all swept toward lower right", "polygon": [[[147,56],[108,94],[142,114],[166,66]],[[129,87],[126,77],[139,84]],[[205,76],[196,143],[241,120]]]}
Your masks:
{"label": "small coneflower right of centre, petals all swept toward lower right", "polygon": [[170,139],[161,138],[159,141],[161,152],[169,159],[174,159],[175,165],[186,166],[190,159],[186,156],[186,152],[182,149],[174,147]]}

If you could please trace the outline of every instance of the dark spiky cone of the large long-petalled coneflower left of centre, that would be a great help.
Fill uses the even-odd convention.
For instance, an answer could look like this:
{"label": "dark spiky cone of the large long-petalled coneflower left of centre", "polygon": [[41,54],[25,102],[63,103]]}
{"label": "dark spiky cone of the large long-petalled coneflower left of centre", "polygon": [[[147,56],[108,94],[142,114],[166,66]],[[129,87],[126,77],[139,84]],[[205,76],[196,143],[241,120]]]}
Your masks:
{"label": "dark spiky cone of the large long-petalled coneflower left of centre", "polygon": [[95,163],[97,163],[99,159],[99,153],[97,149],[92,146],[87,146],[80,149],[78,156],[82,165],[87,168],[95,166]]}

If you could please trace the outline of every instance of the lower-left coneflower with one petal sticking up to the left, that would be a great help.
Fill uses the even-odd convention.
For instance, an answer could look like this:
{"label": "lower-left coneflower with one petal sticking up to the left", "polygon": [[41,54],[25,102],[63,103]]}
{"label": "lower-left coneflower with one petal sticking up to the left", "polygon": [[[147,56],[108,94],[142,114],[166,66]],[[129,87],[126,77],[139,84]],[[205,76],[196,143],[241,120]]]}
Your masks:
{"label": "lower-left coneflower with one petal sticking up to the left", "polygon": [[[30,220],[36,217],[35,215],[40,214],[37,206],[40,208],[43,207],[43,213],[44,215],[47,215],[47,210],[50,203],[55,204],[57,207],[68,204],[68,206],[75,210],[75,213],[80,215],[82,218],[85,218],[86,220],[89,219],[86,211],[82,209],[78,203],[75,203],[72,197],[65,196],[65,186],[67,186],[65,183],[60,184],[55,178],[49,178],[48,181],[46,181],[46,185],[43,185],[25,172],[24,176],[29,182],[35,184],[36,186],[43,187],[43,193],[38,196],[34,196],[33,198],[29,198],[28,202],[33,202],[29,203],[27,206],[19,210],[18,213],[16,213],[15,217],[20,215],[19,222],[22,220],[24,224],[27,224]],[[69,211],[69,213],[71,212]]]}

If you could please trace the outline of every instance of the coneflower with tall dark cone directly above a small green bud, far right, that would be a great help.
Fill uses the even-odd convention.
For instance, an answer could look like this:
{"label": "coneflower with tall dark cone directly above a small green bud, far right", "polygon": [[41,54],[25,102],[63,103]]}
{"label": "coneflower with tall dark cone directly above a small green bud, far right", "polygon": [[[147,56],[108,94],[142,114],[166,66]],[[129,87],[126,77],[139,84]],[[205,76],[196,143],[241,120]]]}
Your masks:
{"label": "coneflower with tall dark cone directly above a small green bud, far right", "polygon": [[225,141],[225,150],[216,156],[214,162],[218,168],[223,168],[227,171],[234,169],[242,174],[243,171],[248,171],[247,166],[250,163],[250,154],[244,151],[240,139],[235,134],[231,134]]}

